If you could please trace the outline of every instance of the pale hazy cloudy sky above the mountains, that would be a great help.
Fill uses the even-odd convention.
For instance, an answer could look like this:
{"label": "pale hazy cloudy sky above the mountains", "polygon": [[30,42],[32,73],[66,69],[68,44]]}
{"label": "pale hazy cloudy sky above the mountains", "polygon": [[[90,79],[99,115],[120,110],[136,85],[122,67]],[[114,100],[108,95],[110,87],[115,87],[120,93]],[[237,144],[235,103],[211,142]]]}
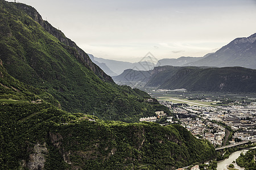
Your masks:
{"label": "pale hazy cloudy sky above the mountains", "polygon": [[256,0],[17,1],[86,53],[119,61],[201,57],[256,32]]}

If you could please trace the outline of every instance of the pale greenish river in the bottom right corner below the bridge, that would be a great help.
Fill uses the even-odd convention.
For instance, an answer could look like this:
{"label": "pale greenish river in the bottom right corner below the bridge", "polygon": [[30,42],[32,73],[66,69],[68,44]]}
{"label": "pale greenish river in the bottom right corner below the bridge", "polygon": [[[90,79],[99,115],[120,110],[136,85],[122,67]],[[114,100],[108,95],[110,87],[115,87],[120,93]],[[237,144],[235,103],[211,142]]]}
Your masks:
{"label": "pale greenish river in the bottom right corner below the bridge", "polygon": [[[253,147],[255,148],[255,147]],[[236,169],[239,170],[243,170],[245,168],[241,168],[239,167],[236,163],[232,163],[233,161],[236,161],[236,159],[240,156],[240,154],[243,152],[243,154],[245,154],[245,152],[247,152],[248,150],[241,150],[241,151],[236,151],[233,152],[232,154],[229,155],[228,159],[222,160],[220,162],[218,162],[218,167],[217,170],[228,170],[228,165],[229,164],[234,164]]]}

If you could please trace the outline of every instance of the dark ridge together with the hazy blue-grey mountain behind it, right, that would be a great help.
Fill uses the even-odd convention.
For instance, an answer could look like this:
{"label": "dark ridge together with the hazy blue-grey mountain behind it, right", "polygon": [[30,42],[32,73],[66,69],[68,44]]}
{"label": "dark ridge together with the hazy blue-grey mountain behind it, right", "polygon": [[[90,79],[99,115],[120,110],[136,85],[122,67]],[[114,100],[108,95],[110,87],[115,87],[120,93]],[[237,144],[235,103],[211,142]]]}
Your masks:
{"label": "dark ridge together with the hazy blue-grey mountain behind it, right", "polygon": [[189,91],[255,92],[255,40],[256,33],[237,38],[204,57],[164,58],[152,70],[127,69],[112,78],[118,84],[138,88],[150,86],[168,90],[186,88]]}

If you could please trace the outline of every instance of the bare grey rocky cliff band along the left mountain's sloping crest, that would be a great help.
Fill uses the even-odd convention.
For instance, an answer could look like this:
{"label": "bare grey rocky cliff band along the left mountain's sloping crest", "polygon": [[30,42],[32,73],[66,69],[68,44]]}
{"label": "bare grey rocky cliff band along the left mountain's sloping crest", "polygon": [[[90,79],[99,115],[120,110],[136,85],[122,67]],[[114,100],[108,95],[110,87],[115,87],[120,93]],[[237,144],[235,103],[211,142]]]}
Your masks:
{"label": "bare grey rocky cliff band along the left mountain's sloping crest", "polygon": [[38,11],[35,10],[35,8],[24,5],[22,3],[15,3],[15,5],[20,10],[26,12],[26,14],[34,19],[35,22],[39,23],[44,29],[46,29],[47,32],[55,36],[60,42],[63,42],[63,44],[75,48],[77,50],[76,58],[79,60],[79,62],[81,62],[84,66],[89,67],[99,78],[101,78],[105,82],[114,82],[111,76],[104,73],[104,71],[101,70],[100,67],[93,63],[92,60],[90,60],[88,54],[86,54],[84,50],[80,49],[75,42],[65,37],[63,32],[53,27],[47,21],[44,21],[42,19],[42,16],[38,13]]}

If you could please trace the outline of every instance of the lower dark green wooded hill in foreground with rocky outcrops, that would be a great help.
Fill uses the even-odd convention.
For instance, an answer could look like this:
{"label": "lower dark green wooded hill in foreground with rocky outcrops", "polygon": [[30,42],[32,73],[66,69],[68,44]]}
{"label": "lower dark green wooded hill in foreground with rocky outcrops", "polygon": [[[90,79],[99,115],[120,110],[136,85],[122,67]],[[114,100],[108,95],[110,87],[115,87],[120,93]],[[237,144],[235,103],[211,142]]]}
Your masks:
{"label": "lower dark green wooded hill in foreground with rocky outcrops", "polygon": [[215,155],[179,125],[93,120],[47,103],[0,105],[0,169],[175,169]]}

